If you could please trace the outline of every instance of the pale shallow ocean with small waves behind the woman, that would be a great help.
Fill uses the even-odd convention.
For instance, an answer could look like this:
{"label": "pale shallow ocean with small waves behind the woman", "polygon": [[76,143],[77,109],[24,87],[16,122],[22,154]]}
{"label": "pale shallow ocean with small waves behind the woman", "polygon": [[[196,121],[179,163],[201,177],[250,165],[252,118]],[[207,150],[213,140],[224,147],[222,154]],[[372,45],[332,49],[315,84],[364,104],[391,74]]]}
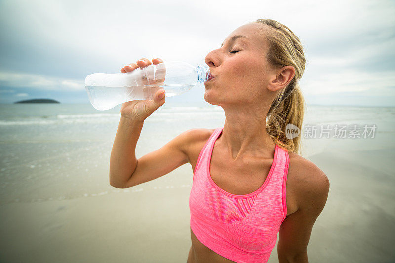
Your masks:
{"label": "pale shallow ocean with small waves behind the woman", "polygon": [[[302,139],[307,157],[334,141],[342,145],[350,141],[333,138],[335,124],[376,124],[376,133],[395,130],[395,108],[307,105],[306,109],[304,127],[332,125],[331,140],[319,135]],[[107,111],[90,104],[0,105],[0,204],[74,198],[112,189],[103,178],[108,177],[119,119],[120,105]],[[166,102],[145,120],[136,156],[157,150],[188,129],[216,128],[224,122],[219,106]],[[369,142],[357,140],[364,140],[360,146]]]}

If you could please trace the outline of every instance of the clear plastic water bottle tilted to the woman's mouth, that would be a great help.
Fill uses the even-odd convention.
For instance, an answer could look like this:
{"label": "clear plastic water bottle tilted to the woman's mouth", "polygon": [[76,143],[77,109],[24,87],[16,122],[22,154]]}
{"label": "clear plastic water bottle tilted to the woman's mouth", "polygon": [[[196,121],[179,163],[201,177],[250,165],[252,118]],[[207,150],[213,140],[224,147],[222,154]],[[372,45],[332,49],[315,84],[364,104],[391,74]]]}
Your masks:
{"label": "clear plastic water bottle tilted to the woman's mouth", "polygon": [[85,89],[90,103],[97,110],[109,110],[133,100],[152,100],[158,89],[166,97],[187,92],[197,83],[209,79],[207,66],[197,68],[179,61],[149,65],[127,73],[94,73],[85,78]]}

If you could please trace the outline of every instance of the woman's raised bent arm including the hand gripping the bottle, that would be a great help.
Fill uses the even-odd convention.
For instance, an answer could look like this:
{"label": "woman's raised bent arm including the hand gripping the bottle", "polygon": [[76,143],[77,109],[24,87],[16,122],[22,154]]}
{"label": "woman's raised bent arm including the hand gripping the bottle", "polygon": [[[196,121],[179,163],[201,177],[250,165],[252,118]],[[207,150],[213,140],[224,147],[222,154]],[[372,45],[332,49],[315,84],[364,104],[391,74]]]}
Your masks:
{"label": "woman's raised bent arm including the hand gripping the bottle", "polygon": [[[154,64],[163,62],[153,59]],[[122,73],[143,68],[152,63],[148,59],[141,59],[136,64],[131,63],[121,69]],[[158,79],[164,79],[165,71],[156,72]],[[158,82],[160,83],[160,82]],[[149,84],[145,80],[145,84]],[[161,95],[162,96],[161,96]],[[152,100],[133,100],[122,103],[121,118],[113,149],[110,157],[110,185],[116,188],[135,186],[162,176],[188,161],[184,139],[177,136],[170,143],[159,150],[136,159],[136,144],[139,139],[144,120],[165,102],[164,92],[156,91]],[[180,141],[181,144],[180,144]]]}

